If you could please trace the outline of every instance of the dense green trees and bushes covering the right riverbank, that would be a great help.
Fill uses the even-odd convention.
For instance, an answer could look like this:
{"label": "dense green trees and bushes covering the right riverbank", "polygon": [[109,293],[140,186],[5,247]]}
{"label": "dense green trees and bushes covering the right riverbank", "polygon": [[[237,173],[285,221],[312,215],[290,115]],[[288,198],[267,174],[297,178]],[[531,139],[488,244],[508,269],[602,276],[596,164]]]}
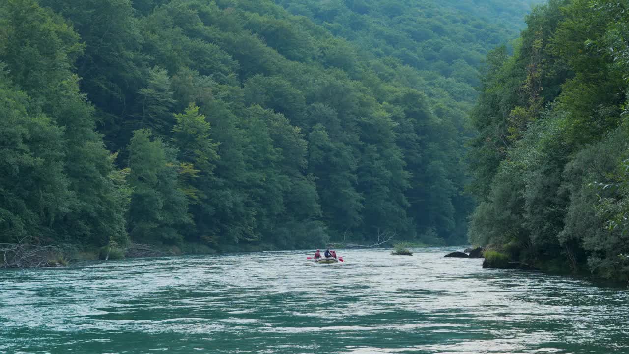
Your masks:
{"label": "dense green trees and bushes covering the right riverbank", "polygon": [[469,233],[496,260],[628,277],[628,14],[627,1],[552,0],[514,55],[489,55]]}

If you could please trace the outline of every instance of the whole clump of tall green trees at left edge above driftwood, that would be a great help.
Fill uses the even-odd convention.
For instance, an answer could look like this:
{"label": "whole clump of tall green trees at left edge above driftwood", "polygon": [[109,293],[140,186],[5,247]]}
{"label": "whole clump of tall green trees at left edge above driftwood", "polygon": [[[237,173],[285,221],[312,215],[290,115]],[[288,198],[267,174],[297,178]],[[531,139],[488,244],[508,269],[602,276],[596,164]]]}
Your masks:
{"label": "whole clump of tall green trees at left edge above driftwood", "polygon": [[3,144],[3,235],[125,244],[128,193],[70,71],[83,48],[77,34],[30,0],[0,4],[0,33],[3,136],[10,139]]}

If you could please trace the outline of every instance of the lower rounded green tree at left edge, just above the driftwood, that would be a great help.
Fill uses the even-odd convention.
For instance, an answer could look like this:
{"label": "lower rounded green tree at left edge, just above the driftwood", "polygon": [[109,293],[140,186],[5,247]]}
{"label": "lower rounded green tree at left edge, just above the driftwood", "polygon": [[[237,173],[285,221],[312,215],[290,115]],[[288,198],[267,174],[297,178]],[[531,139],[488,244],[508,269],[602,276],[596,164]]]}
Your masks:
{"label": "lower rounded green tree at left edge, just above the driftwood", "polygon": [[25,93],[0,74],[0,225],[4,242],[40,234],[68,208],[62,129],[43,114],[28,113]]}

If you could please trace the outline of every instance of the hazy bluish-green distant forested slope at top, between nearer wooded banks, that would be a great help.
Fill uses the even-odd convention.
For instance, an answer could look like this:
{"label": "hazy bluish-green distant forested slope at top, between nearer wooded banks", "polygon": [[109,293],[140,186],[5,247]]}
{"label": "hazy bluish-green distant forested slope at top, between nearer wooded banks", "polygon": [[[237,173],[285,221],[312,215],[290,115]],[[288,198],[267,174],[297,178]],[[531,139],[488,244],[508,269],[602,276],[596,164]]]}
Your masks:
{"label": "hazy bluish-green distant forested slope at top, between nearer wooded banks", "polygon": [[476,101],[479,65],[489,50],[516,38],[524,14],[543,2],[275,1],[354,43],[376,72],[382,62],[397,63],[400,81],[424,92],[434,113],[458,128]]}

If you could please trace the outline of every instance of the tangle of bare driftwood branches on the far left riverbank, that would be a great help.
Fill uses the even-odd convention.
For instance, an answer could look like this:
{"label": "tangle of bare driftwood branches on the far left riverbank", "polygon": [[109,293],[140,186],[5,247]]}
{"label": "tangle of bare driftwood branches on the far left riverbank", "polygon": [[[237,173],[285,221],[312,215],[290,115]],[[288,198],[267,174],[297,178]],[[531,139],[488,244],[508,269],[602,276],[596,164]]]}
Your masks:
{"label": "tangle of bare driftwood branches on the far left riverbank", "polygon": [[0,243],[0,268],[48,268],[65,266],[66,254],[75,246],[68,244],[42,246],[31,237],[18,243]]}

